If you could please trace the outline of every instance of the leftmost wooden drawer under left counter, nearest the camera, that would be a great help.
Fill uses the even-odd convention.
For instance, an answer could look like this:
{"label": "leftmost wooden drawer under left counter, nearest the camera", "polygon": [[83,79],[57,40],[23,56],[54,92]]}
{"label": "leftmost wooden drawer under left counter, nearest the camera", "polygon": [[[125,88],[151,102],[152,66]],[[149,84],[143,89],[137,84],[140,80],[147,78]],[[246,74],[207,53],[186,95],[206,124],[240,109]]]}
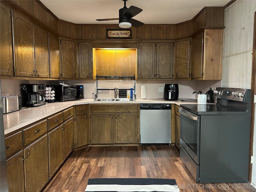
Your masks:
{"label": "leftmost wooden drawer under left counter, nearest the camera", "polygon": [[5,138],[6,159],[22,150],[22,131]]}

